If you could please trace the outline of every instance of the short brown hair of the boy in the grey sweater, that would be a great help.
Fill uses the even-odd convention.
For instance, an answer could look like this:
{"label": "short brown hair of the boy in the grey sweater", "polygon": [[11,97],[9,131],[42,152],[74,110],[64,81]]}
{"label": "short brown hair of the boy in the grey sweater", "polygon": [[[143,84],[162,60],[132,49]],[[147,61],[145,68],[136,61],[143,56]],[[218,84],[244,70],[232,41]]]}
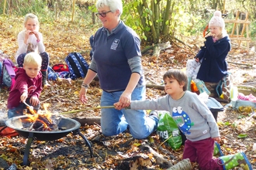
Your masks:
{"label": "short brown hair of the boy in the grey sweater", "polygon": [[163,80],[166,78],[177,80],[180,85],[184,85],[183,91],[187,90],[188,77],[182,70],[168,70],[166,73],[164,73]]}

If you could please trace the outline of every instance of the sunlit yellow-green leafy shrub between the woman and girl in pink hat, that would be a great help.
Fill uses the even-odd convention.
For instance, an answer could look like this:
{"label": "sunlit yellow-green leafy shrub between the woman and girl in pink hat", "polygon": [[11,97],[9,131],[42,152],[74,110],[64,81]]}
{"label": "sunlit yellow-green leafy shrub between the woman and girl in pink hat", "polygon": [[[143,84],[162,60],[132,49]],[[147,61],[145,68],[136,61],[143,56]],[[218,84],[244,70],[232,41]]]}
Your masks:
{"label": "sunlit yellow-green leafy shrub between the woman and girl in pink hat", "polygon": [[[213,15],[212,9],[209,8],[197,8],[192,11],[190,2],[185,1],[172,1],[171,10],[168,13],[168,19],[164,20],[164,13],[166,12],[167,1],[161,1],[158,6],[155,5],[154,8],[159,8],[160,11],[159,18],[152,11],[151,2],[147,1],[147,8],[138,8],[142,2],[137,0],[127,3],[123,7],[122,19],[126,22],[127,26],[133,28],[144,41],[153,43],[152,39],[154,36],[154,31],[157,34],[157,39],[159,41],[167,41],[170,36],[192,36],[194,34],[202,34],[202,31],[207,26],[210,17]],[[191,2],[194,4],[193,2]],[[157,6],[157,7],[156,7]],[[199,8],[199,9],[198,9]],[[153,22],[154,21],[154,22]],[[163,27],[168,26],[168,32],[164,32]],[[155,30],[154,30],[155,29]]]}

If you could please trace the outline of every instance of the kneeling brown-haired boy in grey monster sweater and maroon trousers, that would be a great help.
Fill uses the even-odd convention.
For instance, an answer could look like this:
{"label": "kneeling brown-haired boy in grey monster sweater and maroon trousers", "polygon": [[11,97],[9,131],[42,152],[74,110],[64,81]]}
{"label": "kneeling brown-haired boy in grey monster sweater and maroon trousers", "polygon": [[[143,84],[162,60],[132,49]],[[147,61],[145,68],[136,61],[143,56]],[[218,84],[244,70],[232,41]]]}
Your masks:
{"label": "kneeling brown-haired boy in grey monster sweater and maroon trousers", "polygon": [[[169,111],[187,138],[182,158],[197,162],[200,169],[229,169],[231,166],[240,165],[238,162],[230,163],[230,156],[213,158],[214,141],[221,141],[219,128],[206,104],[196,93],[187,90],[188,79],[185,73],[181,70],[168,70],[164,73],[163,80],[167,95],[152,100],[133,100],[130,108]],[[122,104],[114,105],[118,110],[123,109]],[[242,159],[250,167],[243,152],[234,157]]]}

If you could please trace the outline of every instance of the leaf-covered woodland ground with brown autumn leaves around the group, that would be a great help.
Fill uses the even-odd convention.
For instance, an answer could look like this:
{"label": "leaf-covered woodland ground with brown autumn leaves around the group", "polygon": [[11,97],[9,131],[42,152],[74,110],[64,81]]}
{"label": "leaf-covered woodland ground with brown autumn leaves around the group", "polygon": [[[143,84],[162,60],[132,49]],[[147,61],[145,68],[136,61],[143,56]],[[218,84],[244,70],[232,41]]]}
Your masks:
{"label": "leaf-covered woodland ground with brown autumn leaves around the group", "polygon": [[[2,17],[2,16],[0,16]],[[0,49],[11,56],[14,61],[16,53],[16,36],[20,29],[13,23],[21,19],[1,18],[0,30]],[[68,53],[79,52],[90,63],[88,43],[92,32],[88,26],[80,25],[72,27],[72,24],[63,26],[41,24],[44,36],[44,44],[47,52],[50,53],[50,66],[55,63],[64,63],[64,58]],[[12,25],[12,28],[9,26]],[[80,36],[78,36],[80,35]],[[184,39],[182,39],[184,40]],[[142,57],[144,73],[148,84],[161,85],[162,76],[169,69],[185,69],[187,59],[195,56],[199,50],[199,44],[203,39],[198,37],[185,39],[185,46],[180,42],[171,42],[171,48],[161,51],[158,57],[152,57],[152,51],[144,53]],[[144,46],[144,45],[143,45]],[[254,86],[256,80],[255,73],[255,52],[254,44],[251,43],[251,51],[247,51],[244,46],[237,48],[235,42],[232,43],[233,49],[230,51],[227,60],[229,61],[229,71],[232,73],[236,86]],[[145,47],[145,46],[144,46]],[[142,48],[144,48],[142,47]],[[87,107],[99,107],[99,100],[102,90],[99,82],[94,81],[88,90],[88,104],[81,104],[78,100],[78,93],[81,88],[79,80],[72,80],[71,84],[67,81],[50,81],[51,87],[43,89],[40,96],[41,105],[50,104],[47,107],[52,113],[62,113],[71,110],[80,110]],[[253,93],[249,90],[248,93]],[[254,93],[253,93],[254,94]],[[147,98],[161,97],[165,95],[164,90],[147,87]],[[255,94],[254,94],[255,95]],[[0,92],[0,118],[6,119],[7,98],[9,92]],[[227,103],[221,103],[226,106]],[[251,165],[256,169],[256,152],[253,146],[256,143],[255,118],[250,117],[251,111],[238,111],[232,107],[224,107],[219,112],[217,123],[220,128],[222,141],[221,150],[224,155],[232,155],[238,151],[244,151]],[[45,110],[43,107],[42,110]],[[100,110],[86,110],[65,114],[65,117],[100,117]],[[101,133],[100,124],[81,124],[79,129],[81,134],[92,144],[93,158],[90,157],[88,145],[85,140],[76,134],[67,134],[66,137],[55,141],[36,141],[34,140],[29,153],[29,165],[22,166],[22,158],[26,147],[27,139],[21,136],[0,137],[0,158],[4,159],[8,165],[15,163],[19,169],[166,169],[168,163],[173,165],[182,161],[183,146],[177,150],[163,144],[157,133],[151,134],[150,138],[137,140],[126,132],[113,137],[104,137]],[[243,138],[241,138],[243,137]],[[141,148],[151,148],[147,150]],[[141,161],[141,158],[143,161]],[[161,158],[160,162],[157,158]],[[140,160],[140,162],[138,161]],[[193,169],[198,169],[197,165],[192,165]],[[238,168],[236,168],[238,169]]]}

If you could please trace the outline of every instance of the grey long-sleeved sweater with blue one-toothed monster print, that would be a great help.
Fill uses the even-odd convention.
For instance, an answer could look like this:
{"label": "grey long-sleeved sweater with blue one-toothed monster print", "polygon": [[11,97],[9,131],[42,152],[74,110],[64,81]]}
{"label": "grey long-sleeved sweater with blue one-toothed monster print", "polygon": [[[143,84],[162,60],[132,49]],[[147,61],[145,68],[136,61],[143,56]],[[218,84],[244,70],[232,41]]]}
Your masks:
{"label": "grey long-sleeved sweater with blue one-toothed monster print", "polygon": [[190,91],[185,91],[179,100],[173,100],[168,94],[153,100],[133,100],[130,107],[133,110],[169,111],[189,141],[220,136],[213,114],[198,95]]}

